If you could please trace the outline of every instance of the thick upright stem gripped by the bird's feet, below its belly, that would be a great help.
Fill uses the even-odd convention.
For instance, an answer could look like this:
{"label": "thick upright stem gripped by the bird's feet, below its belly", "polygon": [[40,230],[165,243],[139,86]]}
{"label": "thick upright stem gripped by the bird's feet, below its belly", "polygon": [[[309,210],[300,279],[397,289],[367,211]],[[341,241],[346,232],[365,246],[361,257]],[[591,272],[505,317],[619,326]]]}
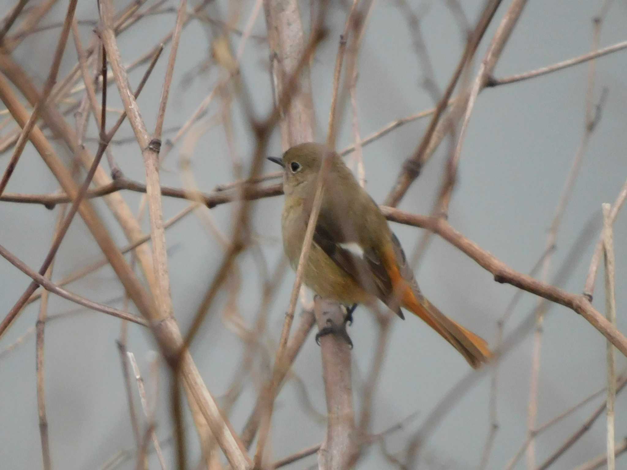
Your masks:
{"label": "thick upright stem gripped by the bird's feet, below its belly", "polygon": [[[318,328],[344,325],[344,311],[339,303],[315,298]],[[338,335],[320,338],[324,390],[327,399],[327,436],[318,451],[320,470],[344,470],[356,451],[355,422],[350,380],[350,347]]]}

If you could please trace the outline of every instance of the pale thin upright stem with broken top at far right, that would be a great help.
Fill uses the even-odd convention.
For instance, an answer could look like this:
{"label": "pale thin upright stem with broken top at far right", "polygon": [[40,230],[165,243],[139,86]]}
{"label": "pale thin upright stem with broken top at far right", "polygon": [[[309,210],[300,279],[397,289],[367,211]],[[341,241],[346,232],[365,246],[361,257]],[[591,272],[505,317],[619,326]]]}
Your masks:
{"label": "pale thin upright stem with broken top at far right", "polygon": [[[610,206],[603,204],[603,258],[605,261],[605,310],[608,320],[616,326],[616,292],[614,290],[614,241],[609,220]],[[614,346],[608,342],[608,470],[614,470],[614,400],[616,399],[616,367]]]}

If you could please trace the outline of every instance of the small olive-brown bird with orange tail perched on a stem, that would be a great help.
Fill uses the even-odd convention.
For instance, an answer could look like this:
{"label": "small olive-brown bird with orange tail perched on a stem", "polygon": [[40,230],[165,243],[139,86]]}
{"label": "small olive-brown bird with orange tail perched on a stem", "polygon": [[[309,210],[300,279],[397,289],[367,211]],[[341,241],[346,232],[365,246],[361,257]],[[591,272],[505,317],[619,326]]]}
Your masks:
{"label": "small olive-brown bird with orange tail perched on a stem", "polygon": [[325,145],[300,144],[288,149],[281,159],[268,157],[284,169],[283,248],[292,268],[297,268],[325,158],[330,159],[330,166],[305,265],[305,285],[347,306],[371,305],[378,298],[401,318],[400,307],[406,308],[440,333],[472,367],[487,361],[491,356],[487,343],[445,316],[421,294],[403,248],[379,206],[339,155]]}

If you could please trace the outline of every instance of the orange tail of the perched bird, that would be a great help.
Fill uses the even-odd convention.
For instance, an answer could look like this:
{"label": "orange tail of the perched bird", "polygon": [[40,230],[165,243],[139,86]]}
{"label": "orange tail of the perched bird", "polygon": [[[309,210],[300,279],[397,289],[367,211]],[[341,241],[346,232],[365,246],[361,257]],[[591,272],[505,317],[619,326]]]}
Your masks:
{"label": "orange tail of the perched bird", "polygon": [[411,288],[406,288],[402,302],[404,308],[422,318],[427,325],[451,343],[473,368],[479,367],[482,362],[487,362],[492,357],[488,343],[483,338],[448,318],[424,296],[414,295]]}

